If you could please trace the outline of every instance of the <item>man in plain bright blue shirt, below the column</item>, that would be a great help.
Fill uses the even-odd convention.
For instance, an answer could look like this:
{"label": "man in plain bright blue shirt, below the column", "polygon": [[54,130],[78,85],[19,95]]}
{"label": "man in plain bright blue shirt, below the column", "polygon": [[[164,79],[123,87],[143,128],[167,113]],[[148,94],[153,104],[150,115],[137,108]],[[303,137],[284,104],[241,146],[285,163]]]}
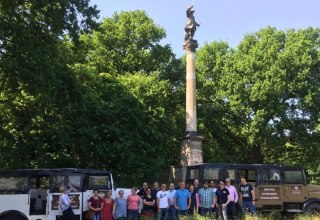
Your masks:
{"label": "man in plain bright blue shirt, below the column", "polygon": [[187,215],[191,205],[191,195],[186,189],[186,183],[180,183],[180,189],[174,195],[174,207],[178,210],[179,215]]}

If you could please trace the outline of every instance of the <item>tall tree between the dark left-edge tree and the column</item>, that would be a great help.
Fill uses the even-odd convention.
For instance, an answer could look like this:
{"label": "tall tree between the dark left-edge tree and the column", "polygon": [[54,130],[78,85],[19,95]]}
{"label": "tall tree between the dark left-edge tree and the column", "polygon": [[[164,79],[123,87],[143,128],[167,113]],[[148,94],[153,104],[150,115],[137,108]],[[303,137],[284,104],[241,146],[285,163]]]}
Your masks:
{"label": "tall tree between the dark left-edge tree and the column", "polygon": [[[160,45],[164,36],[145,12],[121,12],[74,45],[88,101],[71,120],[80,161],[114,170],[127,185],[152,181],[179,161],[182,63]],[[85,162],[88,154],[96,160]]]}

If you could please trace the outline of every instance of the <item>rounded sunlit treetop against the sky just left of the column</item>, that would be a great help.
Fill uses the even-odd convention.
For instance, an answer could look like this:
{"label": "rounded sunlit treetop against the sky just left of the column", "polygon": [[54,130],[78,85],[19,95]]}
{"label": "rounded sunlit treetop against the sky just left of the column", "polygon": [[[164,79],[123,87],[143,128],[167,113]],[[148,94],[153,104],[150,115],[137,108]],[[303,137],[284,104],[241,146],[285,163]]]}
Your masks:
{"label": "rounded sunlit treetop against the sky just left of the column", "polygon": [[164,69],[174,57],[169,45],[160,44],[165,36],[144,11],[115,13],[92,35],[82,35],[81,54],[98,72],[150,74]]}

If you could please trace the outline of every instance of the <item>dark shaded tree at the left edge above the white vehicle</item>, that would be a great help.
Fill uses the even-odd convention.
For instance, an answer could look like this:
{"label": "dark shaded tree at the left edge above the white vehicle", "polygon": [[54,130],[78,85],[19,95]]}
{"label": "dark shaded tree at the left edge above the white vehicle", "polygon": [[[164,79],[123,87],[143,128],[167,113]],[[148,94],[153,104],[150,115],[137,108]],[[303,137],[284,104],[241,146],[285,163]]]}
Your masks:
{"label": "dark shaded tree at the left edge above the white vehicle", "polygon": [[80,95],[61,39],[90,31],[97,13],[88,0],[0,2],[1,167],[54,166],[64,155],[64,114]]}

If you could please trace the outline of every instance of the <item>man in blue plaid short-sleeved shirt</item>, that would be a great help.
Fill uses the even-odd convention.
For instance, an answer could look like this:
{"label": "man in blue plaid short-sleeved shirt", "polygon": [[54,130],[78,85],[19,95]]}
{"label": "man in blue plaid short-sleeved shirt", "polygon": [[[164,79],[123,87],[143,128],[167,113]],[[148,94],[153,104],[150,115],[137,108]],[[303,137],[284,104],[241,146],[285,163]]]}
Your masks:
{"label": "man in blue plaid short-sleeved shirt", "polygon": [[212,209],[216,205],[216,193],[209,188],[209,181],[203,183],[203,188],[199,189],[198,194],[200,198],[200,214],[205,216],[209,213],[212,217]]}

